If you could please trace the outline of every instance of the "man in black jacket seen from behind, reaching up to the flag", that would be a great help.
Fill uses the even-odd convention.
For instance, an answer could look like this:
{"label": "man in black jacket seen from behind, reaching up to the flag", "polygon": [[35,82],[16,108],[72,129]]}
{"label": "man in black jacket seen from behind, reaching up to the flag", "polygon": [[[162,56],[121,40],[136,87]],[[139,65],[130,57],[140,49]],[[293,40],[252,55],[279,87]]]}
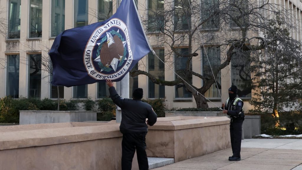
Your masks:
{"label": "man in black jacket seen from behind, reaching up to the flag", "polygon": [[[110,97],[122,110],[120,132],[123,133],[122,140],[122,170],[131,170],[132,160],[137,152],[137,162],[140,170],[148,170],[148,159],[146,154],[146,134],[148,126],[156,123],[157,115],[152,106],[141,101],[143,89],[137,88],[133,91],[133,99],[122,99],[111,80],[106,80],[109,86]],[[146,119],[148,119],[146,121]]]}

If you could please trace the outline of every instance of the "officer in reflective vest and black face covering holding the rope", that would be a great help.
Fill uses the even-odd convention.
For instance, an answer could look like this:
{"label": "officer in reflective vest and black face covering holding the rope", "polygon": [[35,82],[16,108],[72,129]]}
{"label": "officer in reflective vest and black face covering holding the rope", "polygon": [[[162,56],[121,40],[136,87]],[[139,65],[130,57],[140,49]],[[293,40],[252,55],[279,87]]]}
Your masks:
{"label": "officer in reflective vest and black face covering holding the rope", "polygon": [[229,88],[229,98],[226,105],[222,104],[223,113],[231,118],[230,135],[233,155],[229,157],[229,161],[240,161],[242,123],[244,120],[243,101],[237,97],[237,87],[232,85]]}

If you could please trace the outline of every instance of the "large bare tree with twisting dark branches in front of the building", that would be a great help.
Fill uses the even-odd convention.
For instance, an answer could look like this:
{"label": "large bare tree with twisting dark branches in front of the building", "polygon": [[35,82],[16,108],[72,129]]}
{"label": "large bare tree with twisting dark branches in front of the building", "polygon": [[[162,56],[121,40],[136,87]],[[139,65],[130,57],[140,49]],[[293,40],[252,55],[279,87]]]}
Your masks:
{"label": "large bare tree with twisting dark branches in front of the building", "polygon": [[[260,2],[249,0],[148,2],[148,9],[144,13],[146,20],[143,24],[145,28],[148,28],[149,38],[156,36],[151,44],[154,44],[154,47],[169,47],[169,51],[165,51],[165,63],[175,68],[176,73],[183,80],[180,77],[175,77],[173,81],[160,80],[153,74],[138,69],[131,70],[130,75],[132,77],[146,75],[153,83],[159,85],[185,86],[185,89],[194,96],[198,108],[208,107],[205,97],[198,93],[204,95],[215,84],[220,70],[229,65],[232,58],[235,56],[242,60],[250,57],[259,58],[259,51],[267,50],[269,44],[277,41],[284,48],[292,45],[287,42],[294,40],[293,36],[285,38],[284,34],[280,34],[278,39],[268,37],[270,35],[264,36],[266,32],[274,31],[269,23],[276,21],[277,16],[282,21],[280,27],[288,28],[293,33],[300,33],[297,22],[293,22],[297,21],[297,18],[291,15],[291,8],[285,8],[281,4],[271,4],[268,0]],[[299,41],[295,43],[297,47],[300,47]],[[204,48],[204,45],[210,48]],[[187,50],[185,52],[179,50],[181,47],[187,47]],[[218,62],[215,62],[213,56],[208,56],[209,61],[204,61],[211,65],[213,74],[210,67],[203,67],[203,74],[194,72],[192,59],[196,58],[200,51],[203,51],[203,58],[207,58],[206,52],[214,47],[220,48],[221,51]],[[288,56],[294,53],[301,54],[301,48],[288,49]],[[185,67],[177,66],[177,62],[173,61],[177,57],[185,58]],[[243,80],[246,80],[246,86],[251,89],[252,80],[248,73],[250,70],[244,70],[242,63],[237,65],[237,69]],[[190,83],[193,76],[203,81],[201,87]],[[215,86],[221,88],[220,84],[215,84]]]}

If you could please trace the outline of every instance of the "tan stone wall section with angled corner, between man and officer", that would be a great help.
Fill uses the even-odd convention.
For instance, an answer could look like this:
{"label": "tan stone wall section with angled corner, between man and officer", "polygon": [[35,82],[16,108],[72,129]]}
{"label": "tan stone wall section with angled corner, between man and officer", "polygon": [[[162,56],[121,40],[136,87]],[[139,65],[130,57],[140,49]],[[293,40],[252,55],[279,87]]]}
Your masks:
{"label": "tan stone wall section with angled corner, between man and officer", "polygon": [[230,119],[221,117],[160,117],[146,136],[149,157],[174,158],[175,162],[231,147]]}

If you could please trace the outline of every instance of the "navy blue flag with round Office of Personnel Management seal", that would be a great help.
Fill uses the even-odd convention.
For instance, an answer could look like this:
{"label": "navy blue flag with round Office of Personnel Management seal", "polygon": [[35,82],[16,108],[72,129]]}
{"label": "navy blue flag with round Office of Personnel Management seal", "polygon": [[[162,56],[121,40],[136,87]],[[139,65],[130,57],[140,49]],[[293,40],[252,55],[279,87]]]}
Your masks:
{"label": "navy blue flag with round Office of Personnel Management seal", "polygon": [[123,0],[108,20],[56,37],[49,52],[51,83],[71,87],[120,81],[151,49],[133,0]]}

